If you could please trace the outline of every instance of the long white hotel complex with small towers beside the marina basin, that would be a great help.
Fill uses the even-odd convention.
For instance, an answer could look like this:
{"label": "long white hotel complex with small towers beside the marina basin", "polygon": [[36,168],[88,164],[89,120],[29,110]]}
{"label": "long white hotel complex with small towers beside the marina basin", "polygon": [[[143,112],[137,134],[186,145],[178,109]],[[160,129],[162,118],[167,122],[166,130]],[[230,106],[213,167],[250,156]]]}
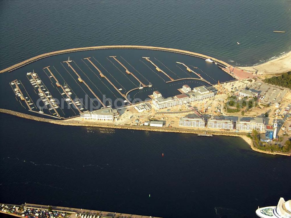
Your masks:
{"label": "long white hotel complex with small towers beside the marina basin", "polygon": [[162,94],[159,93],[159,91],[154,91],[152,95],[152,104],[155,109],[159,110],[214,97],[214,93],[207,89],[205,86],[193,88],[192,91],[191,88],[189,88],[190,87],[188,85],[184,85],[182,90],[184,92],[185,90],[190,90],[189,92],[175,95],[174,97],[169,98],[164,98]]}

